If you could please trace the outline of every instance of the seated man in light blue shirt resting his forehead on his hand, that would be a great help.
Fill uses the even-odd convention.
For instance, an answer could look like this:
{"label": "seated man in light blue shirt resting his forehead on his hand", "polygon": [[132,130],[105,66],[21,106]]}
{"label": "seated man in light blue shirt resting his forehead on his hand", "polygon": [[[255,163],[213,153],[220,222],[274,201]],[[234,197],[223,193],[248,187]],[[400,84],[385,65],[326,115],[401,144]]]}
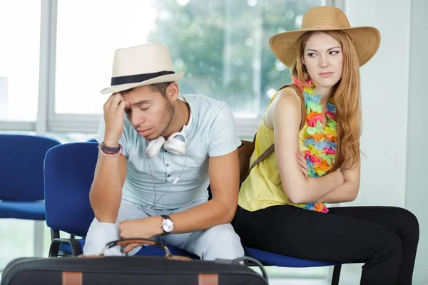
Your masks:
{"label": "seated man in light blue shirt resting his forehead on his hand", "polygon": [[[205,260],[243,256],[230,225],[239,187],[233,113],[204,95],[181,95],[175,81],[182,78],[162,44],[116,51],[111,87],[101,91],[113,95],[96,137],[95,219],[85,254],[99,254],[120,237],[143,237]],[[106,255],[135,254],[139,245]]]}

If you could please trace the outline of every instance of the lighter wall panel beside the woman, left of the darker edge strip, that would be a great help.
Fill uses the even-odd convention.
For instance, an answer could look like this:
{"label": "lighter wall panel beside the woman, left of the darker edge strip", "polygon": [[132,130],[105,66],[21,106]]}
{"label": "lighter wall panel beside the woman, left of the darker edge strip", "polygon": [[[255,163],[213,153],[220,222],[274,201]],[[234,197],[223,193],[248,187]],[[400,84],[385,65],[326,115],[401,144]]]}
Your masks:
{"label": "lighter wall panel beside the woman, left of the darker edge strip", "polygon": [[347,0],[351,26],[374,26],[382,41],[361,68],[363,129],[358,205],[404,207],[409,78],[409,0]]}

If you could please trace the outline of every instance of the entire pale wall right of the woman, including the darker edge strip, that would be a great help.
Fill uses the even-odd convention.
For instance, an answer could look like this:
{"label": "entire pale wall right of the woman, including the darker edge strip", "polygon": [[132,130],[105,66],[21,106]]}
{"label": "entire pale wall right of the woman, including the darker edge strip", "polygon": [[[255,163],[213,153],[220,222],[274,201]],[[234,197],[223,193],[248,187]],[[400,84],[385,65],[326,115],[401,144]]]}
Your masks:
{"label": "entire pale wall right of the woman, including the darker edge strip", "polygon": [[[377,27],[382,43],[361,68],[361,187],[355,202],[342,206],[390,205],[414,212],[421,239],[413,284],[428,284],[428,154],[421,151],[428,138],[423,117],[428,112],[428,1],[346,0],[345,13],[351,26]],[[340,284],[359,284],[361,265],[343,266]]]}

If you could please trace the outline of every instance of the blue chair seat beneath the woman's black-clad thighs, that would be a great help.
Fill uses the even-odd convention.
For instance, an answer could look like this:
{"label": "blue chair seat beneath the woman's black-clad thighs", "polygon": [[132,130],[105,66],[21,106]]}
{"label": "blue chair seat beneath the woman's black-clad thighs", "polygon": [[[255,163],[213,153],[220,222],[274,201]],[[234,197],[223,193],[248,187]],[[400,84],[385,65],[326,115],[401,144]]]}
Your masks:
{"label": "blue chair seat beneath the woman's black-clad thighs", "polygon": [[245,247],[245,252],[249,257],[253,257],[266,265],[281,266],[281,267],[317,267],[317,266],[332,266],[342,264],[335,261],[319,261],[299,259],[296,257],[287,257],[281,254],[274,254],[272,252],[264,252],[260,249],[252,249]]}

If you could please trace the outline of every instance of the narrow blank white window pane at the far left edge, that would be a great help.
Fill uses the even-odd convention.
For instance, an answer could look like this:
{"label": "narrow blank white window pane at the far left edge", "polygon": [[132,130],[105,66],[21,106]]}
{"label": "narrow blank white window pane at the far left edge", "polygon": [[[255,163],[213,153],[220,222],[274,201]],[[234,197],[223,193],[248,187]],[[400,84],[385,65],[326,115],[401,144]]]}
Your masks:
{"label": "narrow blank white window pane at the far left edge", "polygon": [[40,15],[41,1],[0,1],[0,120],[36,120]]}

